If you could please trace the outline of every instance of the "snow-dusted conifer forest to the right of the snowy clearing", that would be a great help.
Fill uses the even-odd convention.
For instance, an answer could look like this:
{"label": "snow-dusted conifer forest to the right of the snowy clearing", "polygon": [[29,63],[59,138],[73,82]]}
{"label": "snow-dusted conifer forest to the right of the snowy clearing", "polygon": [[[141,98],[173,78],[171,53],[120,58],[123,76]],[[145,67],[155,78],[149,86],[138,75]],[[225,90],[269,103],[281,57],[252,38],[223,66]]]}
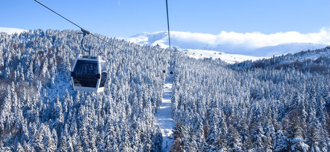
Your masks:
{"label": "snow-dusted conifer forest to the right of the snowy clearing", "polygon": [[330,47],[255,62],[175,58],[176,152],[330,150]]}

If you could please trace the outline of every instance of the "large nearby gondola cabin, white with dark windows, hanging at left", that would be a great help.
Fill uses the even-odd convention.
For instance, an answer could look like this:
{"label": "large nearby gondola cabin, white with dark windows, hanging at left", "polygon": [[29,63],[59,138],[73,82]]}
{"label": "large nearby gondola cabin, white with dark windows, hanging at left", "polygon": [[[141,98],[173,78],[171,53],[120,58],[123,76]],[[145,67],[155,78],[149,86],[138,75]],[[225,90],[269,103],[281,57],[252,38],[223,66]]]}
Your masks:
{"label": "large nearby gondola cabin, white with dark windows, hanging at left", "polygon": [[105,61],[99,55],[79,54],[71,70],[71,85],[74,91],[103,92],[107,75]]}

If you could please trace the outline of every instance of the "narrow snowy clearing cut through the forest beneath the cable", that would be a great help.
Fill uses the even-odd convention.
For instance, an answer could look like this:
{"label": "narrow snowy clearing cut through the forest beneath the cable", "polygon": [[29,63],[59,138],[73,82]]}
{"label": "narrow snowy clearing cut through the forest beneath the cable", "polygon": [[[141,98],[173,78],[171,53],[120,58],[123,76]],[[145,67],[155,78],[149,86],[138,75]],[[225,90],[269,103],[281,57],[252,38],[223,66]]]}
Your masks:
{"label": "narrow snowy clearing cut through the forest beneath the cable", "polygon": [[170,69],[171,69],[170,67],[167,68],[167,76],[164,84],[163,101],[157,113],[155,114],[156,125],[161,127],[161,131],[163,134],[164,152],[168,152],[171,147],[172,140],[169,139],[168,137],[172,134],[172,127],[175,126],[175,123],[172,119],[172,107],[171,107],[173,75],[169,74]]}

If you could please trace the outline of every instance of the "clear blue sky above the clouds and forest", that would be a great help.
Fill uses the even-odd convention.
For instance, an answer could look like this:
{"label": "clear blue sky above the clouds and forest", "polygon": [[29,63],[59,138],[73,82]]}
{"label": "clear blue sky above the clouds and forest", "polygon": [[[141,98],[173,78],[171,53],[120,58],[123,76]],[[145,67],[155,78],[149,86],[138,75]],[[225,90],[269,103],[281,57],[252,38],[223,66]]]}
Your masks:
{"label": "clear blue sky above the clouds and forest", "polygon": [[[165,0],[40,0],[76,24],[109,37],[167,30]],[[330,0],[168,0],[170,30],[319,32]],[[0,27],[78,29],[33,0],[1,0]]]}

